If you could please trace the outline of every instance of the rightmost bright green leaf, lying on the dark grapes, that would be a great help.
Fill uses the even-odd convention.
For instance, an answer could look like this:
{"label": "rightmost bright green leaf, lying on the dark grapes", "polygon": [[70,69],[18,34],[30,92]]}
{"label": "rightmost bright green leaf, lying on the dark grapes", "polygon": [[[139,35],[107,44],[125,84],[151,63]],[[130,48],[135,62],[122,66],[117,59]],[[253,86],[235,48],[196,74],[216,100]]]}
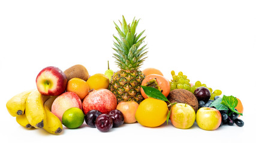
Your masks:
{"label": "rightmost bright green leaf, lying on the dark grapes", "polygon": [[232,95],[228,96],[228,97],[226,95],[223,95],[221,104],[230,108],[230,110],[233,111],[234,113],[237,113],[237,114],[240,114],[243,116],[242,113],[239,113],[238,111],[235,110],[237,103],[238,103],[238,101],[237,101],[236,97],[233,97]]}

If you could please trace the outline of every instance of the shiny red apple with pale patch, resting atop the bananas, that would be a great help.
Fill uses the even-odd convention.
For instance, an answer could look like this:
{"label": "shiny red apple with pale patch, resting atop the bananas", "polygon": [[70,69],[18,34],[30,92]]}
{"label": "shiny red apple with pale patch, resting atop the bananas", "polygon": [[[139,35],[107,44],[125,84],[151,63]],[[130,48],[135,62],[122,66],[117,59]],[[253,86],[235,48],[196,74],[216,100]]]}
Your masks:
{"label": "shiny red apple with pale patch, resting atop the bananas", "polygon": [[58,67],[46,67],[37,75],[37,89],[42,95],[61,95],[67,87],[67,76]]}

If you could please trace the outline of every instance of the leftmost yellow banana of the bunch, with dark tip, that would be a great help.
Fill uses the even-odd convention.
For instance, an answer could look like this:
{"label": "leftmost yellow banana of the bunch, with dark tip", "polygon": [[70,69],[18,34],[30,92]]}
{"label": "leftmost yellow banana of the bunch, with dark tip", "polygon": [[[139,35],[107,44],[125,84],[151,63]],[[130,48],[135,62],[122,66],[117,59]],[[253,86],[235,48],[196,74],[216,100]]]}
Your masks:
{"label": "leftmost yellow banana of the bunch, with dark tip", "polygon": [[26,107],[26,99],[32,91],[33,90],[24,91],[7,101],[6,107],[11,116],[17,117],[24,113]]}

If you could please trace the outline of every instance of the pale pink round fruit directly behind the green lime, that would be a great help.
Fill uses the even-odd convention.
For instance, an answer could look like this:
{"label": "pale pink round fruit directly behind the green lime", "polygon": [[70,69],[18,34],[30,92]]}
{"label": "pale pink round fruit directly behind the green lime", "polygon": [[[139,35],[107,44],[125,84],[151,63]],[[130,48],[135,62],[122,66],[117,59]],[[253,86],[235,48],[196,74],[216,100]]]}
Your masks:
{"label": "pale pink round fruit directly behind the green lime", "polygon": [[55,114],[59,120],[62,120],[64,112],[72,107],[77,107],[82,110],[82,101],[74,92],[65,92],[53,101],[52,113]]}

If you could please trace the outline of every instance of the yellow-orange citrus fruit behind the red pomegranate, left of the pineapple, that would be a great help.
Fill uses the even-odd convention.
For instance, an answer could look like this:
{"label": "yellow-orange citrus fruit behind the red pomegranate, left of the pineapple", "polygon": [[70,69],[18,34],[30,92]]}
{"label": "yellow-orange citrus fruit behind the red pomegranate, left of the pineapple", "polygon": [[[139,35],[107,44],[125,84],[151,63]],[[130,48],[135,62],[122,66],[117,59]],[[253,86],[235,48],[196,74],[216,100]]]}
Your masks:
{"label": "yellow-orange citrus fruit behind the red pomegranate, left of the pineapple", "polygon": [[102,73],[92,75],[86,82],[88,83],[90,89],[109,89],[109,77]]}

